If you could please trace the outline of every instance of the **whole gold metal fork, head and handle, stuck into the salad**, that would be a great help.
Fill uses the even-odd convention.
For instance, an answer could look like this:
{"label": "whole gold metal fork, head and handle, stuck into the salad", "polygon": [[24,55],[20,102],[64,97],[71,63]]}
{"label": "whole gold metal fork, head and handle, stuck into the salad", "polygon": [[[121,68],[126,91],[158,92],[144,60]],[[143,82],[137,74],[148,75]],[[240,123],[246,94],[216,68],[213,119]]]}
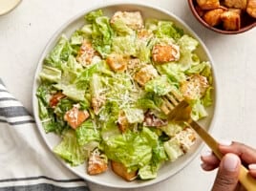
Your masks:
{"label": "whole gold metal fork, head and handle, stuck into the salad", "polygon": [[[175,102],[169,100],[168,105],[175,106],[173,109],[169,110],[168,120],[172,121],[182,121],[192,127],[196,133],[203,139],[203,141],[208,145],[209,148],[213,151],[218,159],[222,159],[224,155],[220,152],[218,146],[219,143],[212,138],[204,129],[201,127],[195,120],[191,118],[191,107],[186,100],[181,100],[181,97],[172,96],[172,98],[176,98]],[[166,104],[166,102],[165,102]],[[240,174],[239,174],[240,182],[245,186],[248,191],[256,190],[256,180],[253,179],[245,166],[241,165]]]}

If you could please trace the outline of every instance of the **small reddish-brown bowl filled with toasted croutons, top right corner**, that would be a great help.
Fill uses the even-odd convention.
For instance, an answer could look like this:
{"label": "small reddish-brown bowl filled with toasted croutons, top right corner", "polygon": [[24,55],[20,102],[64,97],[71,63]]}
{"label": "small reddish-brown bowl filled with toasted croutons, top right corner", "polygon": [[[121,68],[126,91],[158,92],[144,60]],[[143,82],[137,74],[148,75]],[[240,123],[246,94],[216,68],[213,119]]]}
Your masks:
{"label": "small reddish-brown bowl filled with toasted croutons, top right corner", "polygon": [[236,34],[256,27],[256,0],[188,0],[204,27],[214,32]]}

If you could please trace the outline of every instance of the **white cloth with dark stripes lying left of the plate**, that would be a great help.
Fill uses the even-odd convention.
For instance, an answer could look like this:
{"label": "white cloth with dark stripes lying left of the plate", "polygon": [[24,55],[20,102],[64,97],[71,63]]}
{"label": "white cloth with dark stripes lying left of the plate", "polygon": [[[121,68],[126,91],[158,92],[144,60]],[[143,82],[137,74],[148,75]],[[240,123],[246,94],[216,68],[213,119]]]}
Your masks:
{"label": "white cloth with dark stripes lying left of the plate", "polygon": [[0,191],[89,191],[54,158],[36,128],[0,79]]}

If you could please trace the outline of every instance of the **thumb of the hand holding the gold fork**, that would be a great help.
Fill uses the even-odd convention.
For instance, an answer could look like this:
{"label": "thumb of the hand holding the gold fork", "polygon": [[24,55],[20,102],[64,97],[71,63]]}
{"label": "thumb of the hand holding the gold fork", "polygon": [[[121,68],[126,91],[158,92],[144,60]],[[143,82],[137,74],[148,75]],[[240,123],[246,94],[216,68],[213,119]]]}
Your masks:
{"label": "thumb of the hand holding the gold fork", "polygon": [[234,191],[239,176],[241,160],[234,154],[226,154],[222,159],[212,191]]}

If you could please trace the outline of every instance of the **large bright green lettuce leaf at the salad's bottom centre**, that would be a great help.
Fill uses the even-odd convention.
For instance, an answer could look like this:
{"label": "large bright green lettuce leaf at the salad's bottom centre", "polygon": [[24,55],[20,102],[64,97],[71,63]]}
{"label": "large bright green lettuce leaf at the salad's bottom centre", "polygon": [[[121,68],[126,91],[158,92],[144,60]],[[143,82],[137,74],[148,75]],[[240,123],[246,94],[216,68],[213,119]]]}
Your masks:
{"label": "large bright green lettuce leaf at the salad's bottom centre", "polygon": [[147,131],[145,129],[144,127],[141,133],[127,132],[109,138],[104,145],[108,159],[123,163],[128,171],[134,171],[150,164],[153,156],[150,145],[157,141],[158,136],[154,135],[154,132],[145,132]]}

